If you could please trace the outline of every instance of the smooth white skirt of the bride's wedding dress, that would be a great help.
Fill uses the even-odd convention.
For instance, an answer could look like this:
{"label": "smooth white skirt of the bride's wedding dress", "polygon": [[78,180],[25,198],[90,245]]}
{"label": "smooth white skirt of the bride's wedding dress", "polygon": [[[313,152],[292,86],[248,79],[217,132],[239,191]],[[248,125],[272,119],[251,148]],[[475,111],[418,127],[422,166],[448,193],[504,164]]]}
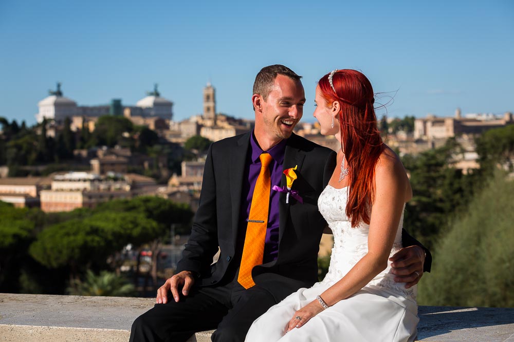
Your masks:
{"label": "smooth white skirt of the bride's wedding dress", "polygon": [[299,289],[256,319],[247,342],[378,342],[414,341],[417,304],[379,286],[366,286],[351,297],[323,310],[301,328],[285,333],[295,312],[323,293],[329,285]]}

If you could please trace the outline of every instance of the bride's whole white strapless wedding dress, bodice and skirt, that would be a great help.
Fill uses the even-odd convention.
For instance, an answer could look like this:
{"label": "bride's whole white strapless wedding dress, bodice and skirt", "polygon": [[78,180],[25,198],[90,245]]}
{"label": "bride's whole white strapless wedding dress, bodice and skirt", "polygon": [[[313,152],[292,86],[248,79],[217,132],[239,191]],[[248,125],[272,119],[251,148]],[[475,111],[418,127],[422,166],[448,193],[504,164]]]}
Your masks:
{"label": "bride's whole white strapless wedding dress, bodice and skirt", "polygon": [[[299,289],[271,307],[252,324],[247,342],[300,341],[413,341],[416,337],[416,287],[395,283],[391,268],[380,272],[360,291],[285,334],[295,312],[340,280],[368,252],[369,225],[351,227],[345,214],[347,188],[328,185],[318,207],[334,234],[334,248],[325,278],[313,287]],[[401,248],[403,214],[391,255]]]}

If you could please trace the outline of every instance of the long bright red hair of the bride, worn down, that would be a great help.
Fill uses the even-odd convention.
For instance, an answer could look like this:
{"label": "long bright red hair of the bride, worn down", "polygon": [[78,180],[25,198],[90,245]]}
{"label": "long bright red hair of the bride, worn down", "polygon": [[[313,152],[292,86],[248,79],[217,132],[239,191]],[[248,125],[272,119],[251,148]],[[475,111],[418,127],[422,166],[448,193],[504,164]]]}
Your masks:
{"label": "long bright red hair of the bride, worn down", "polygon": [[350,176],[346,215],[351,218],[352,227],[361,221],[370,224],[369,209],[375,200],[375,166],[384,150],[373,107],[373,87],[369,79],[356,70],[335,72],[334,89],[328,76],[321,77],[318,85],[327,106],[338,101],[341,107],[338,113],[341,148]]}

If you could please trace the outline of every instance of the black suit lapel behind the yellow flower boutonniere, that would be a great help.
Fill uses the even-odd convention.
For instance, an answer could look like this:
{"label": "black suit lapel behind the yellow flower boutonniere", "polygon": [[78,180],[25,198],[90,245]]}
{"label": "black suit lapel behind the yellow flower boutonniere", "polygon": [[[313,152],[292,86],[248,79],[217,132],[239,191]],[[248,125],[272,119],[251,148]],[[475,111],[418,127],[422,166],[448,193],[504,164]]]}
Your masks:
{"label": "black suit lapel behind the yellow flower boutonniere", "polygon": [[[298,166],[296,169],[296,173],[300,174],[302,172],[303,159],[305,158],[305,152],[300,150],[296,142],[296,135],[292,134],[289,139],[287,139],[287,145],[284,152],[284,163],[283,167],[285,169],[293,168]],[[286,186],[286,176],[282,174],[282,179],[280,182],[280,186]],[[295,189],[295,184],[292,186]],[[289,200],[291,200],[290,198]],[[295,199],[292,199],[295,200]],[[280,204],[279,204],[279,244],[282,240],[282,236],[284,235],[284,231],[286,229],[287,220],[289,217],[289,204],[286,204],[286,194],[280,194]]]}

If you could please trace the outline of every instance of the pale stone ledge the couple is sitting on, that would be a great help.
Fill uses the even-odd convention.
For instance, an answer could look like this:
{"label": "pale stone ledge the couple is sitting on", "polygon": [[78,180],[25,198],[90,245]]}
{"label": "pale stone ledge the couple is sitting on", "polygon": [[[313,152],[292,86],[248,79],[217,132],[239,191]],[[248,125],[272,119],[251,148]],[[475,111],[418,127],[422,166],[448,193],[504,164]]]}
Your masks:
{"label": "pale stone ledge the couple is sitting on", "polygon": [[[127,341],[154,300],[0,293],[0,341]],[[419,341],[514,342],[514,308],[421,306],[419,317]],[[189,342],[208,342],[210,333]]]}

